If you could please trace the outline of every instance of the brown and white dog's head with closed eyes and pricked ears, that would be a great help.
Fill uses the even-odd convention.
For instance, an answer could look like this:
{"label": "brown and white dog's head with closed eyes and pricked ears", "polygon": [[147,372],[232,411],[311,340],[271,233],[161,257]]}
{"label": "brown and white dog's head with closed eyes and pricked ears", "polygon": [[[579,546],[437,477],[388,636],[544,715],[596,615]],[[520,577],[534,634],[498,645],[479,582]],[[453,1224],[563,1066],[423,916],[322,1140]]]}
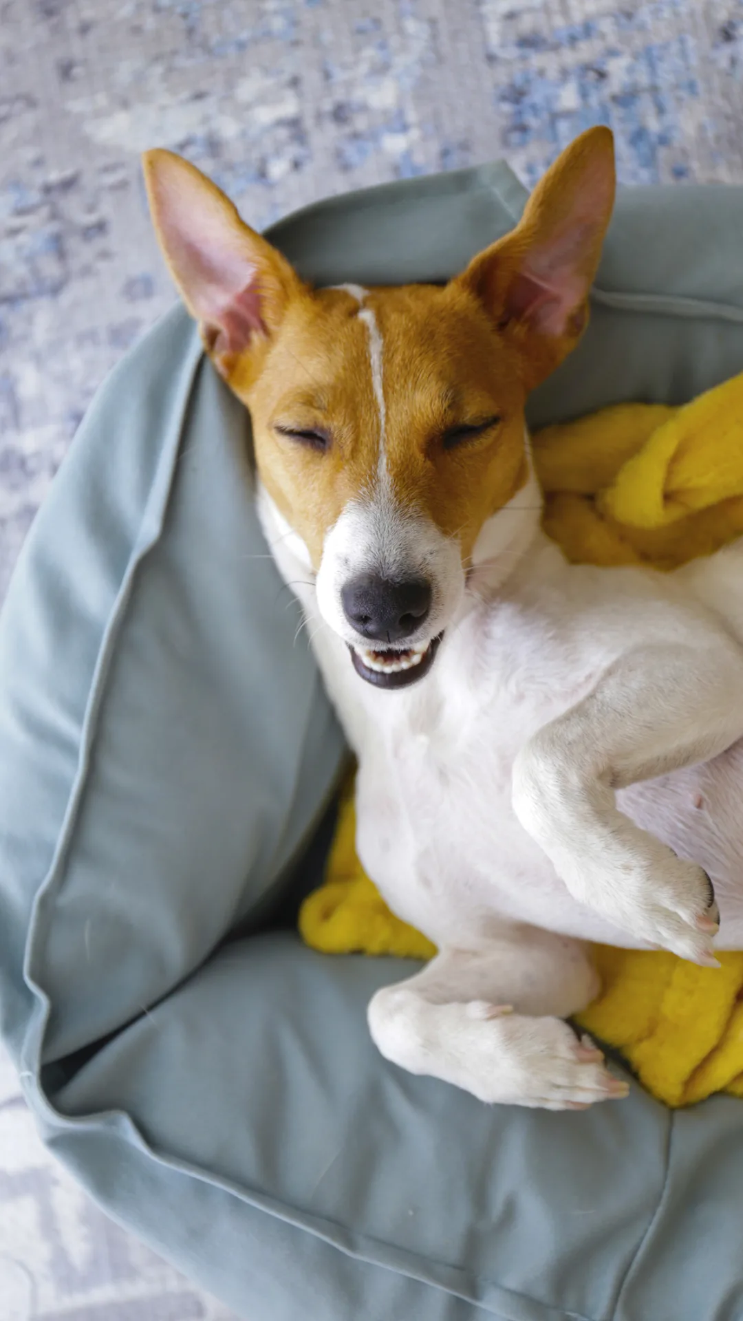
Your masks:
{"label": "brown and white dog's head with closed eyes and pricked ears", "polygon": [[[444,287],[311,289],[193,165],[145,156],[168,266],[249,407],[264,487],[364,679],[430,668],[468,573],[533,507],[524,404],[587,320],[612,136],[562,153],[517,227]],[[529,499],[525,499],[525,493]],[[506,550],[508,547],[508,550]]]}

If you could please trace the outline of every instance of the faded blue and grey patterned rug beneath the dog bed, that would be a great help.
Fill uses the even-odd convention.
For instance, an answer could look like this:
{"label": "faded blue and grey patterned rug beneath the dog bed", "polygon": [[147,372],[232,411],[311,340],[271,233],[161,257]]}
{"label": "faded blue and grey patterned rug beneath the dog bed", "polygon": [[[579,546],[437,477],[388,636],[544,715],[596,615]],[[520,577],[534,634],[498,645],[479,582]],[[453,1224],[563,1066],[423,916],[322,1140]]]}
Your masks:
{"label": "faded blue and grey patterned rug beneath the dog bed", "polygon": [[[506,156],[534,182],[592,123],[624,184],[743,182],[743,0],[3,0],[0,597],[90,398],[173,292],[137,153],[260,229],[328,193]],[[3,1321],[230,1316],[45,1155],[0,1058]]]}

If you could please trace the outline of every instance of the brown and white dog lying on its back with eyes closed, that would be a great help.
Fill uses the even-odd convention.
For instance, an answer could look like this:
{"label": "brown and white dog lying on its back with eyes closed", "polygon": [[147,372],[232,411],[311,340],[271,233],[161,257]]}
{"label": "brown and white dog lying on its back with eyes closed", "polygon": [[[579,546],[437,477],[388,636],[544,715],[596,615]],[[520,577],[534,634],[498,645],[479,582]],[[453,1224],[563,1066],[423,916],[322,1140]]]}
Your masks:
{"label": "brown and white dog lying on its back with eyes closed", "polygon": [[565,1022],[588,943],[743,948],[743,550],[576,567],[541,530],[524,406],[586,326],[611,132],[444,287],[312,289],[193,165],[144,169],[250,410],[266,538],[358,758],[358,856],[440,951],[374,995],[377,1046],[487,1103],[624,1096]]}

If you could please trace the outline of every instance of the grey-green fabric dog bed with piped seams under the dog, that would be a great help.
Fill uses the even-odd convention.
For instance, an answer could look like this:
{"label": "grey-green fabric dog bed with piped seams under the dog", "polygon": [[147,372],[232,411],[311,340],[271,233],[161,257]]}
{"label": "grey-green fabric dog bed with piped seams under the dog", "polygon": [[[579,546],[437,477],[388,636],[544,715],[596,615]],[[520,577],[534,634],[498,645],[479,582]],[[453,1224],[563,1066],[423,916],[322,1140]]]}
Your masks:
{"label": "grey-green fabric dog bed with piped seams under the dog", "polygon": [[[502,164],[271,231],[321,284],[444,280]],[[743,189],[620,192],[543,424],[743,367]],[[100,391],[0,622],[0,1011],[44,1140],[247,1321],[743,1317],[743,1106],[488,1108],[383,1061],[394,959],[293,930],[344,740],[251,502],[249,419],[176,309]]]}

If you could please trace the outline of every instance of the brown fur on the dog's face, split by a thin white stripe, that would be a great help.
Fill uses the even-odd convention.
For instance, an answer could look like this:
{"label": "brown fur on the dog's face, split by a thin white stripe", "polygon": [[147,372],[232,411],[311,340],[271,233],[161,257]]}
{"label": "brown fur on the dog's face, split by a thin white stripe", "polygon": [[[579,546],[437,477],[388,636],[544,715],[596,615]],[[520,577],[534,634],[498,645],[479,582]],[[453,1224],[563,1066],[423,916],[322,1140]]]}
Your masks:
{"label": "brown fur on the dog's face, split by a thin white stripe", "polygon": [[[518,362],[476,297],[457,285],[374,289],[365,300],[382,339],[385,461],[395,499],[457,536],[469,556],[485,519],[526,480]],[[249,406],[260,474],[319,564],[349,499],[377,483],[381,419],[370,337],[341,291],[295,303],[256,371],[230,386]],[[444,449],[450,428],[498,415],[487,436]],[[327,453],[276,425],[331,432]]]}

